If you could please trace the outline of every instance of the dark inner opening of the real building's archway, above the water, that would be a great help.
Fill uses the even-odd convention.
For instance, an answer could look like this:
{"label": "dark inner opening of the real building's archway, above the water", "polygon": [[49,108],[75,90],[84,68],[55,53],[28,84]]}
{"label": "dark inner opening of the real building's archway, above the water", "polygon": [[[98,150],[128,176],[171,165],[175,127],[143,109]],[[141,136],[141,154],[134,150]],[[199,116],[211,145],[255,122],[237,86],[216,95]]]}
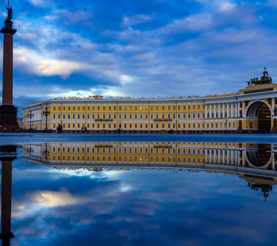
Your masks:
{"label": "dark inner opening of the real building's archway, above the water", "polygon": [[271,111],[263,103],[258,111],[258,133],[270,133],[271,129]]}

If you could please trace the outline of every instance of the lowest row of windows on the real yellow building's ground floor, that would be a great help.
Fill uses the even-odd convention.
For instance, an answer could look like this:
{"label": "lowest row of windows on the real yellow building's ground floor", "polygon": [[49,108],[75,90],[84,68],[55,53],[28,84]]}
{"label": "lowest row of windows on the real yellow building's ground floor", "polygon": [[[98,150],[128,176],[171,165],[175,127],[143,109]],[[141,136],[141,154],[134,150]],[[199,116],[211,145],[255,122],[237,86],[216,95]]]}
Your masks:
{"label": "lowest row of windows on the real yellow building's ground floor", "polygon": [[[96,128],[100,128],[100,123],[96,123],[96,124],[92,123],[91,125],[92,125],[92,129],[95,128],[95,125],[96,125]],[[106,123],[102,123],[101,125],[102,125],[101,128],[106,128]],[[127,128],[127,123],[120,124],[120,125],[121,125],[120,128],[122,128],[122,125],[124,126],[125,129]],[[129,123],[129,129],[133,129],[133,126],[134,126],[134,128],[138,128],[138,125],[139,125],[139,128],[142,128],[142,129],[148,128],[148,123],[140,123],[140,124],[135,123],[134,125],[132,123]],[[144,127],[143,127],[143,125],[144,125]],[[200,128],[200,125],[201,125],[201,123],[188,123],[188,128],[189,129],[190,128]],[[53,128],[56,128],[56,126],[57,126],[56,123],[53,123]],[[63,123],[63,128],[65,128],[65,126],[66,126],[66,124]],[[76,128],[75,123],[67,124],[67,128],[71,128],[71,126],[72,126],[72,128]],[[90,128],[90,123],[87,123],[86,125],[85,125],[85,123],[82,123],[82,127],[85,127],[85,126],[86,126],[86,128]],[[156,129],[160,128],[159,123],[155,123],[155,124],[150,123],[150,128],[154,128],[154,126]],[[206,123],[206,128],[218,128],[218,126],[219,126],[219,128],[222,128],[222,123],[211,123],[211,124]],[[233,122],[232,124],[231,124],[231,122],[228,122],[228,128],[231,128],[231,126],[232,126],[232,128],[235,128],[235,122]],[[108,123],[107,127],[112,128],[112,124]],[[175,123],[167,124],[168,129],[171,129],[171,128],[175,129],[175,127],[176,127]],[[80,123],[77,123],[77,128],[78,129],[80,128]],[[117,128],[117,124],[114,123],[113,129],[116,129],[116,128]],[[165,128],[164,123],[161,124],[161,128]],[[181,123],[178,123],[178,128],[179,129],[181,128]],[[204,128],[205,128],[205,123],[202,123],[202,129],[204,129]],[[226,128],[226,123],[224,123],[223,128]],[[186,123],[183,123],[183,129],[186,129]]]}

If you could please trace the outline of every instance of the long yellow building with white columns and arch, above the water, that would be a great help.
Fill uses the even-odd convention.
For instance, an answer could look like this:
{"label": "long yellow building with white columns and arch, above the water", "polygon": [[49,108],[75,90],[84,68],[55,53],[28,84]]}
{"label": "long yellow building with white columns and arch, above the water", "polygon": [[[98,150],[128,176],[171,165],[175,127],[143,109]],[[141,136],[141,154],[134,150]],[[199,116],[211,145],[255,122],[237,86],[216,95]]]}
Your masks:
{"label": "long yellow building with white columns and arch, above the water", "polygon": [[[269,81],[268,81],[269,82]],[[102,96],[60,97],[34,102],[23,108],[24,128],[30,128],[28,114],[34,114],[33,128],[44,129],[47,107],[50,115],[48,128],[62,124],[64,133],[80,133],[83,127],[89,133],[251,133],[276,132],[277,85],[259,84],[239,92],[206,97],[130,98]]]}

